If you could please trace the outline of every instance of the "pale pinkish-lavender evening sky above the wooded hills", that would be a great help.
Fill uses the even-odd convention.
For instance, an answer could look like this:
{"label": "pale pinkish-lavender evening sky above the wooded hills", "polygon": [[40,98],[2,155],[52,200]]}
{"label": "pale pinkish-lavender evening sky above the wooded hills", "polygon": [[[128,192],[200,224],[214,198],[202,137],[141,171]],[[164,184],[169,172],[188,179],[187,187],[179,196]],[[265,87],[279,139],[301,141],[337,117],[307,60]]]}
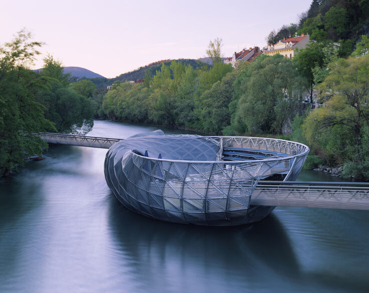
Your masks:
{"label": "pale pinkish-lavender evening sky above the wooded hills", "polygon": [[[107,78],[164,59],[205,57],[223,39],[225,57],[266,45],[265,37],[297,22],[311,0],[117,1],[0,0],[0,45],[26,28],[40,50],[64,66]],[[286,36],[287,37],[287,36]],[[35,69],[43,65],[42,56]]]}

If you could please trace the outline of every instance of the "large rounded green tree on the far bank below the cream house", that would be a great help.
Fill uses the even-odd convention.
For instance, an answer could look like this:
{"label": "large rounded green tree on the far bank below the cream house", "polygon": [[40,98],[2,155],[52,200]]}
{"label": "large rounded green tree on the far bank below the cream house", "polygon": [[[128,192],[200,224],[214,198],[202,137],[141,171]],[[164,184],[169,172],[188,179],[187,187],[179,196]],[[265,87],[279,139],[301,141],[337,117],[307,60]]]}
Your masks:
{"label": "large rounded green tree on the far bank below the cream house", "polygon": [[[236,134],[280,133],[283,123],[295,116],[297,76],[292,61],[279,54],[262,56],[248,65],[235,81],[238,106],[230,103],[236,110],[231,125]],[[279,115],[282,109],[287,112]]]}

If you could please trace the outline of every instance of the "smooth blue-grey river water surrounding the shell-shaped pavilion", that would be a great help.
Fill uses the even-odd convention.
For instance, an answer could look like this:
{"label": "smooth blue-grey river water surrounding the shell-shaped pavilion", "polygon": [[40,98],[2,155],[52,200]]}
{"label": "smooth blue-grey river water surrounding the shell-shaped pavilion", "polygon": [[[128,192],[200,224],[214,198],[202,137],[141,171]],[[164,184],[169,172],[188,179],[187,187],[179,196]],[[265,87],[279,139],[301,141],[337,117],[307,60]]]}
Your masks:
{"label": "smooth blue-grey river water surrounding the shell-shaped pavilion", "polygon": [[[96,121],[89,135],[155,129]],[[0,292],[369,291],[368,211],[280,207],[232,228],[155,221],[109,191],[106,151],[54,145],[0,179]]]}

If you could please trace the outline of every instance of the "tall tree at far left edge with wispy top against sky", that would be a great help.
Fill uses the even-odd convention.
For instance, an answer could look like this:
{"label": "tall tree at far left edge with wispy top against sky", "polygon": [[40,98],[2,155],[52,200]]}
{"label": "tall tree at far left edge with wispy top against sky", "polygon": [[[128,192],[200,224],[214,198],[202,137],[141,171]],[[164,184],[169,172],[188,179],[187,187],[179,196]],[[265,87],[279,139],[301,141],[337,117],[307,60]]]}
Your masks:
{"label": "tall tree at far left edge with wispy top against sky", "polygon": [[43,80],[27,68],[40,52],[41,42],[30,42],[22,30],[0,47],[0,174],[25,164],[27,156],[41,155],[47,144],[32,132],[55,130],[45,119],[45,108],[35,100]]}

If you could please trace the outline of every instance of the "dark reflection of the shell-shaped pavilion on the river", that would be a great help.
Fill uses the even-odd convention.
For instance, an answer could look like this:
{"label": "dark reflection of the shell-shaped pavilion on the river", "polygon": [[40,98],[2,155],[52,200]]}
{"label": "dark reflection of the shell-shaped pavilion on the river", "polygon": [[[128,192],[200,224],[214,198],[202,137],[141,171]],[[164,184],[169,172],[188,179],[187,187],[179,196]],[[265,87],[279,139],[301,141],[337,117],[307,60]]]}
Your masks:
{"label": "dark reflection of the shell-shaped pavilion on the river", "polygon": [[[275,216],[253,225],[202,227],[147,219],[117,200],[109,205],[109,227],[117,249],[129,255],[137,275],[149,276],[142,280],[147,287],[160,276],[171,280],[171,287],[186,282],[193,289],[209,288],[209,283],[200,281],[203,278],[211,284],[222,279],[247,289],[250,284],[259,287],[265,274],[268,282],[298,277],[293,249]],[[212,289],[221,291],[219,285],[224,284]]]}

